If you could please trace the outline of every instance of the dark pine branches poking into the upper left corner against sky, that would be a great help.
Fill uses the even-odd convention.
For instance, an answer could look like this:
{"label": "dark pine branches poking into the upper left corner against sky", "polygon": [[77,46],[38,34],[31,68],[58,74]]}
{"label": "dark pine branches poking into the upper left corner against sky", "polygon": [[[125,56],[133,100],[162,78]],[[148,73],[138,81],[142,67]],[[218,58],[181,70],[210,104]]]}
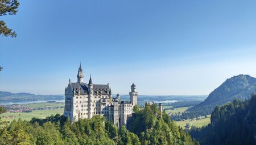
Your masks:
{"label": "dark pine branches poking into the upper left corner against sky", "polygon": [[[15,15],[19,7],[17,0],[0,0],[0,16]],[[0,20],[0,34],[2,36],[16,37],[16,32],[8,28],[3,20]],[[2,68],[0,68],[1,71]]]}

